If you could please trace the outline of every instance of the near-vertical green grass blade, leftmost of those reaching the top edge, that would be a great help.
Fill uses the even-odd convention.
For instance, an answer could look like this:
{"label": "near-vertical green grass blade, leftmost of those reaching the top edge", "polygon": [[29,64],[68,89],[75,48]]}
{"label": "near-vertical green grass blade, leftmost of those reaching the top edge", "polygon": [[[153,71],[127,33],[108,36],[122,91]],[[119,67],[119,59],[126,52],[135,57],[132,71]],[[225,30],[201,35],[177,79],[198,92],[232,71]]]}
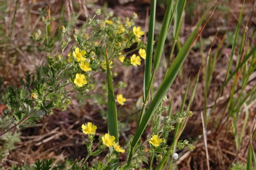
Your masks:
{"label": "near-vertical green grass blade, leftmost of those reaching the top edge", "polygon": [[146,53],[147,57],[146,57],[146,64],[145,64],[145,71],[144,71],[143,101],[146,98],[147,90],[149,90],[148,86],[151,78],[156,5],[157,5],[157,0],[152,0],[149,26],[148,26],[148,35],[147,35],[147,53]]}

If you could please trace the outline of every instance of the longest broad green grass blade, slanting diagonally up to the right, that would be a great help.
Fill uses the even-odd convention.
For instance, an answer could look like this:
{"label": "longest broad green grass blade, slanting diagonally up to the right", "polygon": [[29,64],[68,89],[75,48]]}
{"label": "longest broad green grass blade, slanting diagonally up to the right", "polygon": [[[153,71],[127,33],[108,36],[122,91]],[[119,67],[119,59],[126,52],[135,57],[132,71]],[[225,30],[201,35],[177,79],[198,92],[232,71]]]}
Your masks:
{"label": "longest broad green grass blade, slanting diagonally up to the right", "polygon": [[133,150],[136,144],[138,143],[140,136],[142,135],[143,131],[146,129],[146,126],[148,122],[150,121],[151,117],[157,110],[157,107],[161,103],[163,97],[165,97],[166,92],[169,90],[170,86],[172,85],[174,79],[176,78],[179,69],[181,68],[181,65],[183,64],[185,58],[187,57],[187,54],[189,50],[191,49],[191,45],[193,44],[194,38],[196,37],[196,33],[199,29],[199,26],[202,24],[204,17],[199,21],[197,24],[197,27],[195,30],[191,33],[191,35],[188,37],[187,41],[185,42],[184,46],[181,48],[180,52],[178,53],[177,57],[173,61],[173,64],[171,65],[169,71],[167,72],[165,78],[163,79],[157,93],[155,94],[155,97],[153,101],[151,102],[150,106],[148,107],[148,110],[146,111],[144,117],[142,118],[142,121],[140,125],[138,126],[135,136],[131,143],[131,151],[128,158],[128,165],[131,163]]}

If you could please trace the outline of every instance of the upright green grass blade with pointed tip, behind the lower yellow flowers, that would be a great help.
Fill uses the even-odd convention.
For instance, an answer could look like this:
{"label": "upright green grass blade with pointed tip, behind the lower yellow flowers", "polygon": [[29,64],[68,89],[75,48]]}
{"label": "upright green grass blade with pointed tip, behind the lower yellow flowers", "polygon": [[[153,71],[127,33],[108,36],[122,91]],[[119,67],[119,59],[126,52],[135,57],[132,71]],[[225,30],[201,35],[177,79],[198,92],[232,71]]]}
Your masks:
{"label": "upright green grass blade with pointed tip, behind the lower yellow flowers", "polygon": [[[106,52],[106,68],[107,68],[107,78],[108,78],[108,131],[111,136],[116,137],[116,143],[118,143],[118,126],[117,126],[117,111],[116,111],[116,101],[114,97],[114,88],[109,68],[109,59],[108,52],[105,44]],[[110,147],[110,151],[113,151],[113,148]],[[110,163],[111,170],[118,170],[119,164],[119,154],[114,151],[117,155],[117,159]]]}

